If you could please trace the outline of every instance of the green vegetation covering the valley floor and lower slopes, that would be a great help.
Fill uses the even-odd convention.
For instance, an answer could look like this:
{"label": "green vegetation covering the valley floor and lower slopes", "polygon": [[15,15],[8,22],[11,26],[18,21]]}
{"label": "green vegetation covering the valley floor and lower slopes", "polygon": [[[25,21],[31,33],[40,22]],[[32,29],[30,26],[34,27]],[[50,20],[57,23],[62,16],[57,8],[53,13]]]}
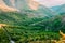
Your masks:
{"label": "green vegetation covering the valley floor and lower slopes", "polygon": [[1,12],[0,24],[8,26],[0,28],[0,43],[10,43],[4,29],[15,43],[52,43],[51,40],[60,40],[58,30],[65,30],[64,16],[30,17],[27,13]]}

